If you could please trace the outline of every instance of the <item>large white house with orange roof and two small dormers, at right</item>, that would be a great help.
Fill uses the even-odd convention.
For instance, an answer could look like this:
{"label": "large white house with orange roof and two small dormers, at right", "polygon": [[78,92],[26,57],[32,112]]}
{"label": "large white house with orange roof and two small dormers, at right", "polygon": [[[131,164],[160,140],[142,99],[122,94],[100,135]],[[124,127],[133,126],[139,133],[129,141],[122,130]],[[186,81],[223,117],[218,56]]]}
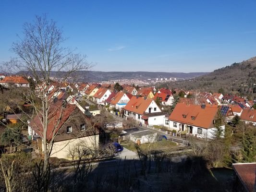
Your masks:
{"label": "large white house with orange roof and two small dormers, at right", "polygon": [[216,106],[206,105],[187,105],[177,103],[173,109],[168,126],[171,130],[192,134],[200,138],[212,138],[219,126],[224,133],[224,120],[219,114],[219,109]]}

